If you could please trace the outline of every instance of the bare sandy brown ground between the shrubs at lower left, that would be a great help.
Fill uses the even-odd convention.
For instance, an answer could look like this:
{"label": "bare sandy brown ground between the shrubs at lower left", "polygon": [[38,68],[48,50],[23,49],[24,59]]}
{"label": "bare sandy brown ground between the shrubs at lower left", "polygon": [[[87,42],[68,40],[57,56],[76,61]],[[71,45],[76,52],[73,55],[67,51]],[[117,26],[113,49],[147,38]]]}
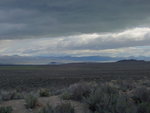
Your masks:
{"label": "bare sandy brown ground between the shrubs at lower left", "polygon": [[44,97],[38,99],[38,105],[34,109],[26,109],[25,108],[25,101],[21,100],[10,100],[5,101],[0,104],[0,106],[12,106],[13,112],[12,113],[38,113],[39,109],[49,103],[52,106],[56,106],[62,102],[70,102],[74,108],[75,113],[88,113],[89,111],[86,110],[86,106],[80,102],[68,100],[63,101],[58,96],[51,96],[51,97]]}

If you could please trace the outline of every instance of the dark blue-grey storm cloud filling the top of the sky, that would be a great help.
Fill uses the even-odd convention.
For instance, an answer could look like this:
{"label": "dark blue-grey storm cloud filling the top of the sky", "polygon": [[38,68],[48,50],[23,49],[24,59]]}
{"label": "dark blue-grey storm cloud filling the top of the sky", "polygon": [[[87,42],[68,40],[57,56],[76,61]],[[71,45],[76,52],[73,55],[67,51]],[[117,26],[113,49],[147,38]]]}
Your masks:
{"label": "dark blue-grey storm cloud filling the top of the sky", "polygon": [[1,0],[0,39],[149,26],[148,0]]}

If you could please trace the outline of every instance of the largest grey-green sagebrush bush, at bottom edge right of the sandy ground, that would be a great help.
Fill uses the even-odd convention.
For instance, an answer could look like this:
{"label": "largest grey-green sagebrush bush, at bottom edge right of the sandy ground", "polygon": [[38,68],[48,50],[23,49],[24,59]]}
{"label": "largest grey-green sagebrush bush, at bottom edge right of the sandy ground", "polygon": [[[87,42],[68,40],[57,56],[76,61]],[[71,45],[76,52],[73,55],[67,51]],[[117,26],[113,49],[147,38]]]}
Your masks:
{"label": "largest grey-green sagebrush bush, at bottom edge right of the sandy ground", "polygon": [[102,85],[84,99],[93,113],[136,113],[129,97],[119,94],[116,88]]}

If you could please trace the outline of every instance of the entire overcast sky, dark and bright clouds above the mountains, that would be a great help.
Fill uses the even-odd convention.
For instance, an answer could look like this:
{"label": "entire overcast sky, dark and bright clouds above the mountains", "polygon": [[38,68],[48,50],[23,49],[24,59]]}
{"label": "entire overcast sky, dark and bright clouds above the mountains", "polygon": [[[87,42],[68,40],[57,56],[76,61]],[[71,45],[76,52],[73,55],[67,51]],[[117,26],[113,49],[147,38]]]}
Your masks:
{"label": "entire overcast sky, dark and bright clouds above the mountains", "polygon": [[150,56],[149,0],[0,0],[0,56]]}

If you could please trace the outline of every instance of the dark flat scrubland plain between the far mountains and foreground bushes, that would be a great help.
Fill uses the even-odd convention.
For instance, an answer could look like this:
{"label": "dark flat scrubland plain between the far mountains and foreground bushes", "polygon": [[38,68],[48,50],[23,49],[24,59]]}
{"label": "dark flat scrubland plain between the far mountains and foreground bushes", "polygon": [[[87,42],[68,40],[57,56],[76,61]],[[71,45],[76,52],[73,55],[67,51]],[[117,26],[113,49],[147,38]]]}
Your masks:
{"label": "dark flat scrubland plain between the far mountains and foreground bushes", "polygon": [[62,88],[78,81],[150,78],[149,62],[0,66],[0,88]]}

